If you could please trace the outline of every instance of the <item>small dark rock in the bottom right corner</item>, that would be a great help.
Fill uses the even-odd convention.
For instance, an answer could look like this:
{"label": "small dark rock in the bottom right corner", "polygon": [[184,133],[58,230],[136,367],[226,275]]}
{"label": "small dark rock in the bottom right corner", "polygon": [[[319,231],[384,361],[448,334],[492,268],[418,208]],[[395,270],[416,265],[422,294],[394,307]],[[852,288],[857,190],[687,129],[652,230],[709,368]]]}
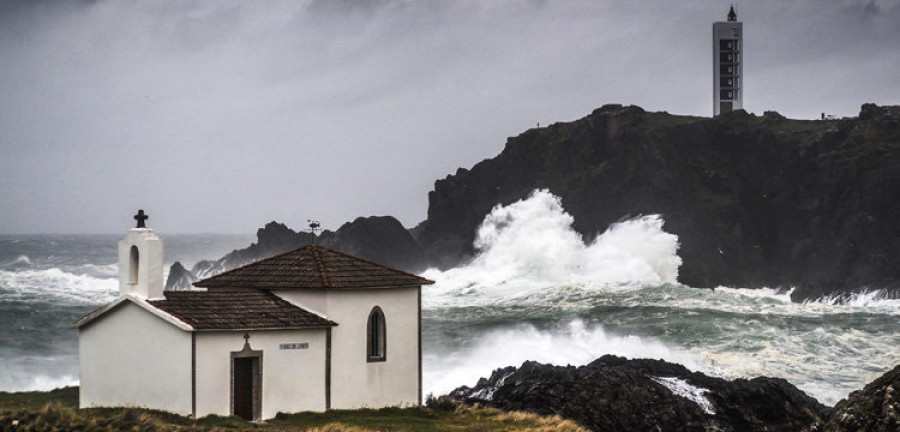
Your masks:
{"label": "small dark rock in the bottom right corner", "polygon": [[838,402],[834,414],[819,430],[900,431],[900,365]]}

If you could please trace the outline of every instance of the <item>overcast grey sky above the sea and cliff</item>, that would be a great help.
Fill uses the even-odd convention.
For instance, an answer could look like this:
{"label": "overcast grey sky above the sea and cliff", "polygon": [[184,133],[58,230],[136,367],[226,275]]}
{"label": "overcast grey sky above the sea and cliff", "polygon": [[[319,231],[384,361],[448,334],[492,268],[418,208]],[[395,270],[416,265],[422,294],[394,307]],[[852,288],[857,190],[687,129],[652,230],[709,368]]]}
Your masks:
{"label": "overcast grey sky above the sea and cliff", "polygon": [[[434,180],[607,103],[710,115],[723,1],[0,5],[0,233],[425,217]],[[898,1],[745,1],[745,108],[900,104]]]}

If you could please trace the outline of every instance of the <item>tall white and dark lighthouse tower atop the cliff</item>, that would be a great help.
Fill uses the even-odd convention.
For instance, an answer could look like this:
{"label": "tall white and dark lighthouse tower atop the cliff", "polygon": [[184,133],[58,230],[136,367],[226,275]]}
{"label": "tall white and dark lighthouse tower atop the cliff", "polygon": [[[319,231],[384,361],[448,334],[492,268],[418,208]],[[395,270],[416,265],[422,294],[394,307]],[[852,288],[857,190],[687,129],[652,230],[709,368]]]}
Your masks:
{"label": "tall white and dark lighthouse tower atop the cliff", "polygon": [[743,24],[734,6],[728,21],[713,23],[713,115],[744,107]]}

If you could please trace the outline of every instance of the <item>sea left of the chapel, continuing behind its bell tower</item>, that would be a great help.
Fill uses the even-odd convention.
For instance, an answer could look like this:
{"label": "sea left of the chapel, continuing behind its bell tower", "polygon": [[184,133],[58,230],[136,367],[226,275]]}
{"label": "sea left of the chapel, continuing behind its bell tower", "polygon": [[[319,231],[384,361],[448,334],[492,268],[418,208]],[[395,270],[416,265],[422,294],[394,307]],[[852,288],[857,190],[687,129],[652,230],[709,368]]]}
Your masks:
{"label": "sea left of the chapel, continuing behind its bell tower", "polygon": [[[0,390],[78,384],[82,315],[119,295],[115,235],[0,236]],[[190,267],[253,240],[249,235],[164,236],[169,264]]]}

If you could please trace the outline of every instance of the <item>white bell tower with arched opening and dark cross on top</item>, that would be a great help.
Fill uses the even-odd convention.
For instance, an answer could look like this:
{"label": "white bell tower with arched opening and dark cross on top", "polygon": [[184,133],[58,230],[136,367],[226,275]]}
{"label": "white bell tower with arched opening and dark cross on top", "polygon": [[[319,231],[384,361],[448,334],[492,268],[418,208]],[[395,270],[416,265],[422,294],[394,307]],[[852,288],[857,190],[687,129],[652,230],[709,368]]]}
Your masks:
{"label": "white bell tower with arched opening and dark cross on top", "polygon": [[137,226],[119,240],[119,295],[163,298],[163,243],[147,228],[149,218],[138,210]]}

